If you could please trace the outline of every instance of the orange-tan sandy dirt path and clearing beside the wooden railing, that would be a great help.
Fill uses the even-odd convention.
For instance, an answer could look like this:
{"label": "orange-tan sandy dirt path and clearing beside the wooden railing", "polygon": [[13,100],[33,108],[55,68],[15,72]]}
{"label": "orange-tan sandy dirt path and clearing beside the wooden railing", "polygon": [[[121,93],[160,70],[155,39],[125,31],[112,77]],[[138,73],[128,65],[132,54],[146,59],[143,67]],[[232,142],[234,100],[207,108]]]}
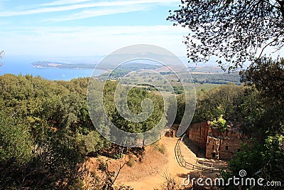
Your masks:
{"label": "orange-tan sandy dirt path and clearing beside the wooden railing", "polygon": [[[163,137],[159,143],[165,145],[165,153],[162,154],[154,149],[153,146],[146,147],[146,154],[142,162],[136,159],[133,167],[125,165],[116,179],[116,184],[124,184],[133,187],[135,190],[150,190],[160,189],[161,185],[165,183],[163,176],[173,176],[175,181],[182,184],[182,180],[190,174],[191,177],[199,177],[201,175],[215,177],[216,173],[204,173],[202,171],[192,171],[180,167],[178,161],[175,159],[175,144],[178,138]],[[187,162],[196,164],[196,155],[183,143],[181,143],[181,151]],[[92,159],[91,159],[92,160]],[[214,165],[219,163],[226,164],[222,161],[204,159],[204,161],[213,162]],[[109,165],[111,171],[119,170],[119,160],[112,160]],[[95,164],[95,162],[92,162]]]}

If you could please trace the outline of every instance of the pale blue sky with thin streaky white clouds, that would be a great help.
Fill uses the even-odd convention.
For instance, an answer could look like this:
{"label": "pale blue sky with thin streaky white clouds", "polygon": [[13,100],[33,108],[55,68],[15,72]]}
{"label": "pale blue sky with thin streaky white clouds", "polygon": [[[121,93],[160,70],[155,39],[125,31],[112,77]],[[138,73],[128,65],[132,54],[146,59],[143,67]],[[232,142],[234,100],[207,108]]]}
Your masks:
{"label": "pale blue sky with thin streaky white clouds", "polygon": [[106,56],[151,44],[186,56],[186,28],[166,21],[180,0],[0,0],[6,56]]}

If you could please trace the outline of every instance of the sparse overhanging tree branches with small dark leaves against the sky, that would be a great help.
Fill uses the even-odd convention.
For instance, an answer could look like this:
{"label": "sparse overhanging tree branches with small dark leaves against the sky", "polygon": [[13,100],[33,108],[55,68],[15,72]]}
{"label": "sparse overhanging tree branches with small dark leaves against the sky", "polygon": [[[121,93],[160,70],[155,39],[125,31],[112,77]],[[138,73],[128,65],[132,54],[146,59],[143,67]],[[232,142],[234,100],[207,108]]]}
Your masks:
{"label": "sparse overhanging tree branches with small dark leaves against the sky", "polygon": [[284,1],[181,1],[168,20],[188,28],[187,57],[194,62],[219,58],[229,70],[242,67],[268,46],[283,47]]}

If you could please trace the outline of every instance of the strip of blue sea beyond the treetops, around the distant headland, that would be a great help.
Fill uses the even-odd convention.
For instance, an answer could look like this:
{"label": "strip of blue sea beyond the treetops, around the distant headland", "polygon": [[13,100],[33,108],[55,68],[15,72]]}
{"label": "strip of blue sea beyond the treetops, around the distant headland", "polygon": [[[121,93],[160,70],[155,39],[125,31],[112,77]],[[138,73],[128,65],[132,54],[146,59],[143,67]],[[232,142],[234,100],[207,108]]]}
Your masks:
{"label": "strip of blue sea beyond the treetops, around the distant headland", "polygon": [[28,56],[4,56],[0,63],[0,75],[10,73],[13,75],[40,75],[42,78],[48,80],[71,80],[72,78],[90,77],[93,73],[101,75],[104,70],[92,69],[69,69],[69,68],[33,68],[31,63],[39,61],[38,58],[31,58]]}

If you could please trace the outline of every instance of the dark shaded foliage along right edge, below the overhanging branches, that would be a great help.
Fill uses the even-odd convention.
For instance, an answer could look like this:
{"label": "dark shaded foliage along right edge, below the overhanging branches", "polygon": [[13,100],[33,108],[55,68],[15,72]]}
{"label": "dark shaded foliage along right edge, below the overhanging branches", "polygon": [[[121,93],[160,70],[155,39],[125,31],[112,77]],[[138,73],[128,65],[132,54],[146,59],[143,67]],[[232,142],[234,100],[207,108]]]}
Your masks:
{"label": "dark shaded foliage along right edge, below the overhanging branches", "polygon": [[280,181],[284,184],[284,96],[283,59],[261,58],[242,72],[242,80],[255,87],[253,99],[244,103],[243,117],[246,124],[255,131],[256,142],[244,147],[230,162],[232,174],[246,169],[248,177],[261,177],[266,181]]}

